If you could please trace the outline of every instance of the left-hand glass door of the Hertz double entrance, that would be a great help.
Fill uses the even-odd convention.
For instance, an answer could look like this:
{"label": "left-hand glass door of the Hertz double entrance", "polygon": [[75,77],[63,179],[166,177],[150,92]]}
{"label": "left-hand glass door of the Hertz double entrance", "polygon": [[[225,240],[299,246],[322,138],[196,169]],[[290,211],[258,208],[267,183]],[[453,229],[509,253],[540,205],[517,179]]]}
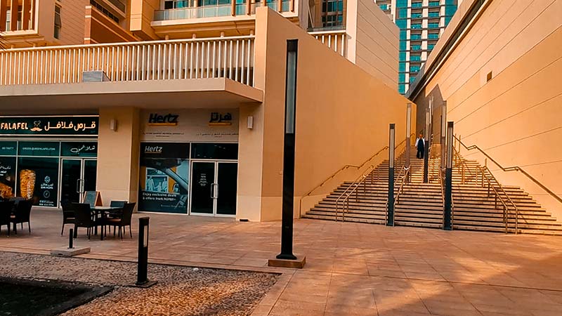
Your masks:
{"label": "left-hand glass door of the Hertz double entrance", "polygon": [[191,213],[214,214],[215,163],[193,162],[191,167]]}

